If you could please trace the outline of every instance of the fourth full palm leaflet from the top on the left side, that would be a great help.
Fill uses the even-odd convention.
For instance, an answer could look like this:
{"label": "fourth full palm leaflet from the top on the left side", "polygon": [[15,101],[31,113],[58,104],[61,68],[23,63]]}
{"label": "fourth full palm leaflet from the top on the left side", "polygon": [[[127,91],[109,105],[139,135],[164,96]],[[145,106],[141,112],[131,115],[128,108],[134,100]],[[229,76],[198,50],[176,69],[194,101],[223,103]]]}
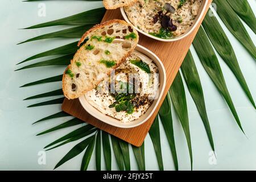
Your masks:
{"label": "fourth full palm leaflet from the top on the left side", "polygon": [[70,60],[73,59],[73,56],[74,56],[74,53],[71,53],[69,55],[56,57],[54,59],[40,61],[38,63],[30,64],[25,67],[16,69],[15,71],[19,71],[22,69],[28,69],[28,68],[35,68],[35,67],[46,67],[46,66],[52,66],[52,65],[68,65],[68,64],[70,64]]}

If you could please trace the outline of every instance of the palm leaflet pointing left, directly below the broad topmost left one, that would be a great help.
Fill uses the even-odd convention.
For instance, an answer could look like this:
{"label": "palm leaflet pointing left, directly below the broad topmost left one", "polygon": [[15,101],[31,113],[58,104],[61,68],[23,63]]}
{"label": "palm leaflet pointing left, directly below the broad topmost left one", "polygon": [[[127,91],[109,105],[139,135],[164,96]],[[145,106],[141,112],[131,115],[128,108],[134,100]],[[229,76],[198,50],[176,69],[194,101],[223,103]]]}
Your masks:
{"label": "palm leaflet pointing left, directly below the broad topmost left one", "polygon": [[94,24],[86,24],[86,25],[83,25],[83,26],[68,28],[68,29],[65,29],[65,30],[52,32],[52,33],[49,33],[49,34],[36,36],[35,38],[25,40],[24,42],[21,42],[21,43],[18,43],[18,44],[23,44],[23,43],[32,42],[32,41],[35,41],[35,40],[42,40],[42,39],[81,38],[81,36],[84,34],[84,32],[88,31],[89,28],[92,28],[93,26],[94,26]]}

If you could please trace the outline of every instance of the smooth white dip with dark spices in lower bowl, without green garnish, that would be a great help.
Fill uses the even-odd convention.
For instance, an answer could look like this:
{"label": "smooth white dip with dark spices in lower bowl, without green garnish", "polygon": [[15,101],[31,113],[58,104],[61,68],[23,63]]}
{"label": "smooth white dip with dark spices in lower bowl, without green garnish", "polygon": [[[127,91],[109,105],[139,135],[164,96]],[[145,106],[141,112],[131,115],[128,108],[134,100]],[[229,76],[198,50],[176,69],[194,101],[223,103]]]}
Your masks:
{"label": "smooth white dip with dark spices in lower bowl, without green garnish", "polygon": [[[148,74],[143,71],[137,65],[132,64],[130,60],[142,60],[144,63],[148,64],[151,73]],[[86,100],[90,105],[101,111],[106,115],[119,119],[121,122],[131,122],[135,119],[141,117],[150,107],[152,101],[157,97],[159,82],[158,82],[158,68],[153,63],[153,61],[147,56],[134,51],[129,57],[127,57],[126,62],[122,63],[116,70],[114,76],[111,76],[111,79],[114,79],[115,87],[117,87],[118,82],[127,82],[127,75],[130,73],[137,76],[138,83],[138,93],[134,98],[135,101],[139,101],[137,104],[134,104],[134,112],[127,114],[126,111],[117,112],[114,107],[110,108],[109,106],[115,102],[113,92],[110,93],[110,77],[106,77],[99,85],[98,88],[93,89],[85,94]],[[134,84],[135,85],[135,84]],[[119,85],[118,85],[119,86]],[[136,90],[136,89],[134,89]],[[155,98],[156,99],[156,98]]]}

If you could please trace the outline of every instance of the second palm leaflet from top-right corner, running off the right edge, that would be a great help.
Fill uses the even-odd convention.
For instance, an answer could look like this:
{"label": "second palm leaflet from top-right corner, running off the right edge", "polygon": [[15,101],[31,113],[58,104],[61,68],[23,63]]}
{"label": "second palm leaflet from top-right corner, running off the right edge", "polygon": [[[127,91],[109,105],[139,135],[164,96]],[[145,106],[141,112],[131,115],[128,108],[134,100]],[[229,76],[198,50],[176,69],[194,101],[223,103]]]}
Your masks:
{"label": "second palm leaflet from top-right corner, running off the right edge", "polygon": [[256,48],[241,20],[227,1],[213,0],[218,9],[217,13],[230,32],[239,40],[256,60]]}

